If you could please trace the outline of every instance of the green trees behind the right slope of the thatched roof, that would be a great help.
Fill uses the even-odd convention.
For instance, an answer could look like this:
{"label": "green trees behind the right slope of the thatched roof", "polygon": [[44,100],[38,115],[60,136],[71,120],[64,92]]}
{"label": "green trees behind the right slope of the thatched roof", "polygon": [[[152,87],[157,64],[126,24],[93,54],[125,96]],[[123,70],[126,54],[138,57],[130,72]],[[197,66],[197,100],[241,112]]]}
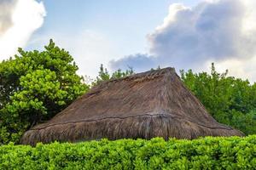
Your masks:
{"label": "green trees behind the right slope of the thatched roof", "polygon": [[181,71],[185,85],[218,122],[256,133],[256,84],[227,75],[228,71],[218,73],[214,64],[210,74]]}

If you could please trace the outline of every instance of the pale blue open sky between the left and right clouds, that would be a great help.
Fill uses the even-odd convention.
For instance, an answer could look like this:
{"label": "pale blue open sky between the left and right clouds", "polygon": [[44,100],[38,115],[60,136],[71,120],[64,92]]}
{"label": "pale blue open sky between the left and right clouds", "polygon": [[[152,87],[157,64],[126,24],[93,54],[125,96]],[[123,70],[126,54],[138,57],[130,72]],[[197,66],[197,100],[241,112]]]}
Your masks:
{"label": "pale blue open sky between the left and right clouds", "polygon": [[[34,33],[26,49],[42,48],[49,38],[54,38],[55,42],[69,50],[75,59],[79,58],[77,63],[80,74],[95,77],[101,63],[109,68],[110,59],[119,59],[129,54],[147,53],[146,36],[163,21],[168,14],[170,4],[184,3],[193,6],[197,2],[197,0],[163,0],[149,3],[147,0],[109,0],[99,3],[93,0],[63,0],[59,3],[56,0],[44,0],[47,11],[44,25]],[[80,36],[84,31],[85,34],[90,35]],[[64,42],[67,39],[60,38],[66,36],[70,42],[89,38],[92,43],[98,44],[97,47],[88,47],[86,51],[87,42],[84,42],[84,47],[80,47],[80,44],[79,47],[70,47]],[[80,41],[83,43],[83,40]],[[96,48],[101,50],[104,48],[102,46],[108,46],[111,49],[103,49],[104,52],[97,53]],[[78,52],[77,48],[84,48],[88,54],[81,54],[82,52]],[[84,65],[88,60],[80,58],[90,58],[87,68],[84,68]]]}

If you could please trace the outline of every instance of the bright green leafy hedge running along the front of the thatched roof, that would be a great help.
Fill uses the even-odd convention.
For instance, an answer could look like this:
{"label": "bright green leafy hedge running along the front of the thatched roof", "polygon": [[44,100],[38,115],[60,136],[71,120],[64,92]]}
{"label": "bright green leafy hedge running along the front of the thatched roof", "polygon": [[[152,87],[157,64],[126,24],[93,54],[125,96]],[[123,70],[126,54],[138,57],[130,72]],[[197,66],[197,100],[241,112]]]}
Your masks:
{"label": "bright green leafy hedge running along the front of the thatched roof", "polygon": [[255,169],[256,135],[0,146],[1,169]]}

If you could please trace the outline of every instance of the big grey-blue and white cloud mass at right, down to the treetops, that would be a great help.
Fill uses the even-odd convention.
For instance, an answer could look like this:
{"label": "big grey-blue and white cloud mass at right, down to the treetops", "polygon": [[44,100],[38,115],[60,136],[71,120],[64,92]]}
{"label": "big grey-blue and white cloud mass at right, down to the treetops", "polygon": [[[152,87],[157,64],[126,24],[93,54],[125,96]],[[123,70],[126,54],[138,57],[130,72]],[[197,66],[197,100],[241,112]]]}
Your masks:
{"label": "big grey-blue and white cloud mass at right, down to the treetops", "polygon": [[[249,61],[256,56],[255,7],[252,0],[208,0],[193,8],[172,4],[164,22],[148,34],[148,54],[154,57],[144,59],[154,59],[154,65],[162,67],[195,71],[212,61],[222,67],[229,64],[230,70],[232,63],[239,63],[240,70],[247,71]],[[111,63],[113,68],[137,62],[139,67],[147,67],[147,61],[141,60],[142,56],[134,56]]]}

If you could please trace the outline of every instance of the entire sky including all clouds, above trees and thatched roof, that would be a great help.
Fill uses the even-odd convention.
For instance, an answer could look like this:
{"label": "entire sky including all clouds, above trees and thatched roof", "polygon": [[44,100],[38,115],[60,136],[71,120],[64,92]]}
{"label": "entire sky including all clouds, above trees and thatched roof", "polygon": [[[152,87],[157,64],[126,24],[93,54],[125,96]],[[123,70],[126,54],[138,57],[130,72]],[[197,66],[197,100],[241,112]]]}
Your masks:
{"label": "entire sky including all clouds, above trees and thatched roof", "polygon": [[218,71],[256,80],[256,12],[252,0],[2,0],[0,59],[17,47],[42,50],[53,38],[79,74],[110,71]]}

